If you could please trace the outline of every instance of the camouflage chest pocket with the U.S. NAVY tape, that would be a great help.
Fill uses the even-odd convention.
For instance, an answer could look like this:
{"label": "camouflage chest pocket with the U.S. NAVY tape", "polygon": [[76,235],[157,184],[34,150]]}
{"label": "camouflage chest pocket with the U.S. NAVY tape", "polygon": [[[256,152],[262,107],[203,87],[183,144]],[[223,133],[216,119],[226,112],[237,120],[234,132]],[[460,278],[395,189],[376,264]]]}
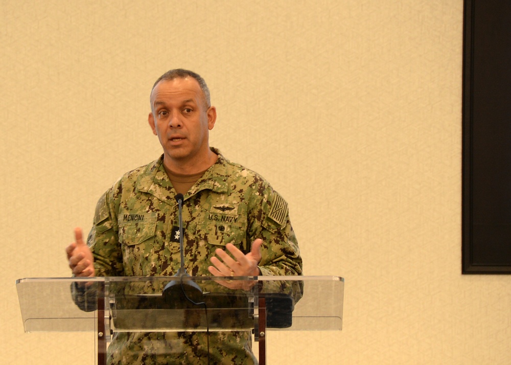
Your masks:
{"label": "camouflage chest pocket with the U.S. NAVY tape", "polygon": [[215,246],[232,243],[235,246],[246,245],[246,218],[239,215],[203,213],[197,225],[196,235],[200,240]]}

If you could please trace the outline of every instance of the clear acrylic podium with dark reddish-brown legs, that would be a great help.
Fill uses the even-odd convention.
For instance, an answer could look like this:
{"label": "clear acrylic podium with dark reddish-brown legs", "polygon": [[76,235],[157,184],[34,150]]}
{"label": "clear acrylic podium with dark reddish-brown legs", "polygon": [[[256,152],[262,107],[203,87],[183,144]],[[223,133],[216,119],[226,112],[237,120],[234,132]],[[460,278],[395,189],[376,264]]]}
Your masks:
{"label": "clear acrylic podium with dark reddish-brown legs", "polygon": [[175,279],[28,278],[17,280],[16,289],[26,332],[95,332],[98,365],[106,364],[108,344],[116,332],[251,331],[259,343],[259,363],[265,365],[268,330],[342,329],[344,279],[340,277],[260,276],[227,281],[225,277],[183,277],[182,284],[193,281],[202,294],[185,296],[182,288],[187,285],[180,283],[162,295]]}

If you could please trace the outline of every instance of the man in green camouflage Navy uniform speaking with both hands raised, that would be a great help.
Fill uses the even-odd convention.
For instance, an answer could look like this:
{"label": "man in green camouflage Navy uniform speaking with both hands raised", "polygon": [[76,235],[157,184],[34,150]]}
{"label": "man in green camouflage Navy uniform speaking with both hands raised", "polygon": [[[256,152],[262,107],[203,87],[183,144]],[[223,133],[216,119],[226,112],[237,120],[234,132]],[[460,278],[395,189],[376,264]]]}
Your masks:
{"label": "man in green camouflage Navy uniform speaking with both hands raised", "polygon": [[[164,153],[126,173],[101,197],[83,242],[66,248],[75,276],[172,276],[180,267],[177,193],[184,195],[184,267],[192,276],[301,275],[287,203],[253,171],[208,144],[216,121],[204,80],[162,75],[149,124]],[[228,283],[228,280],[226,280]],[[224,285],[227,285],[224,283]],[[116,333],[111,364],[257,363],[247,331]]]}

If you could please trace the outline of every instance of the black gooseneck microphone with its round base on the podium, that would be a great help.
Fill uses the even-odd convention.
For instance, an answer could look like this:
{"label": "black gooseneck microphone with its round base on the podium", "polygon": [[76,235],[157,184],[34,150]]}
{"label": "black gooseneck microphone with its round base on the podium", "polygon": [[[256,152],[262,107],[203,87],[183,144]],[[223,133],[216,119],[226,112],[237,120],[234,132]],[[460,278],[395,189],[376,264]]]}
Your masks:
{"label": "black gooseneck microphone with its round base on the podium", "polygon": [[187,270],[184,268],[184,245],[183,245],[183,194],[176,194],[178,209],[179,209],[179,249],[181,252],[181,266],[177,270],[174,277],[179,277],[179,280],[172,280],[163,289],[162,295],[167,300],[172,300],[174,295],[184,297],[187,300],[198,301],[202,297],[202,289],[193,280],[184,280],[183,277],[190,277]]}

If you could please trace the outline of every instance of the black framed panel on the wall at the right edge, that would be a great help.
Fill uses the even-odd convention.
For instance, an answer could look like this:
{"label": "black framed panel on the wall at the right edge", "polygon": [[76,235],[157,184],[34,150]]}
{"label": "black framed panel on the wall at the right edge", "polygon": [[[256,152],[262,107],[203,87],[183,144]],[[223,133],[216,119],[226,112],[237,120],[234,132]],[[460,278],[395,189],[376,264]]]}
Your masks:
{"label": "black framed panel on the wall at the right edge", "polygon": [[466,0],[463,273],[511,273],[511,2]]}

